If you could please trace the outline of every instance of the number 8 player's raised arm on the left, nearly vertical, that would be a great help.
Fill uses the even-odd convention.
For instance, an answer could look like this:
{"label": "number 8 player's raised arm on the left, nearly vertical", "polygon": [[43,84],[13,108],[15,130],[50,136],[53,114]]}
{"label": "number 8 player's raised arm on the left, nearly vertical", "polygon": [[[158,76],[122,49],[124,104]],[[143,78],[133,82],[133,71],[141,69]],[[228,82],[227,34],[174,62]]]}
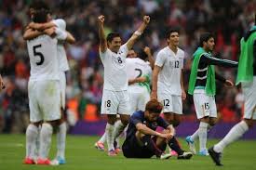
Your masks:
{"label": "number 8 player's raised arm on the left, nearly vertical", "polygon": [[104,53],[107,50],[107,40],[106,40],[105,33],[104,33],[104,20],[105,20],[105,17],[103,15],[98,17],[101,53]]}

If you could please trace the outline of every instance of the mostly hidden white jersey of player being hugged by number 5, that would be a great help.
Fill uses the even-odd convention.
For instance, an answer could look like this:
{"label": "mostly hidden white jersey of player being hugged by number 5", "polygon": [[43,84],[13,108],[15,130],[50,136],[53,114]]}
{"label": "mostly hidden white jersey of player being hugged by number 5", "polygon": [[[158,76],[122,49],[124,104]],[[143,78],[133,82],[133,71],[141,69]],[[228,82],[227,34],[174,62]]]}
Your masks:
{"label": "mostly hidden white jersey of player being hugged by number 5", "polygon": [[[65,20],[52,20],[52,22],[61,29],[61,31],[66,31],[66,22]],[[64,41],[58,41],[58,46],[57,46],[57,52],[58,52],[58,58],[59,58],[59,62],[60,62],[60,71],[61,72],[66,72],[68,71],[69,68],[69,64],[68,64],[68,59],[66,56],[66,51],[64,48]]]}

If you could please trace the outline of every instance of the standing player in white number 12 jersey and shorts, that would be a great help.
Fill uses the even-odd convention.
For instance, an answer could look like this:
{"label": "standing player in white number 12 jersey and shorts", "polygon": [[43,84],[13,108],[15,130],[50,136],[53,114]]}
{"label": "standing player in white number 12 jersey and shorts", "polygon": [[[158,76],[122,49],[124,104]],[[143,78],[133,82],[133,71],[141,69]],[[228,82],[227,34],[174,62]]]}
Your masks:
{"label": "standing player in white number 12 jersey and shorts", "polygon": [[176,127],[182,119],[182,99],[186,98],[182,80],[184,51],[178,47],[177,29],[169,30],[166,40],[168,46],[161,49],[155,59],[151,98],[162,102],[164,119]]}

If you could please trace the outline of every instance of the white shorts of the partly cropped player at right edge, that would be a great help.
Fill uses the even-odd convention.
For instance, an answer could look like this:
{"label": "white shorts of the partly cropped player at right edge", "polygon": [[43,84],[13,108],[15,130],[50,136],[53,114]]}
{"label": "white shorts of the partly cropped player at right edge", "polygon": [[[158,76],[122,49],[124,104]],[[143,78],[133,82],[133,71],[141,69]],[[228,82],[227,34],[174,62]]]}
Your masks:
{"label": "white shorts of the partly cropped player at right edge", "polygon": [[244,118],[256,120],[256,76],[253,82],[242,83],[242,89],[245,96]]}

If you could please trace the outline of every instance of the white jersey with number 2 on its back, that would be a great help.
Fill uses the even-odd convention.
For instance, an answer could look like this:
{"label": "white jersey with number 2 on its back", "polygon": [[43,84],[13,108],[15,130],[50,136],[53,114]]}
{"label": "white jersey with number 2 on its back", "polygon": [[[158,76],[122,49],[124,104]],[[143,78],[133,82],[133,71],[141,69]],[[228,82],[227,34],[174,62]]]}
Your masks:
{"label": "white jersey with number 2 on its back", "polygon": [[[135,79],[141,76],[146,76],[147,78],[151,78],[152,69],[147,62],[140,58],[128,58],[127,59],[127,72],[128,72],[128,80]],[[137,88],[141,88],[139,83],[128,85],[129,88],[136,90]],[[148,82],[148,86],[149,82]]]}

